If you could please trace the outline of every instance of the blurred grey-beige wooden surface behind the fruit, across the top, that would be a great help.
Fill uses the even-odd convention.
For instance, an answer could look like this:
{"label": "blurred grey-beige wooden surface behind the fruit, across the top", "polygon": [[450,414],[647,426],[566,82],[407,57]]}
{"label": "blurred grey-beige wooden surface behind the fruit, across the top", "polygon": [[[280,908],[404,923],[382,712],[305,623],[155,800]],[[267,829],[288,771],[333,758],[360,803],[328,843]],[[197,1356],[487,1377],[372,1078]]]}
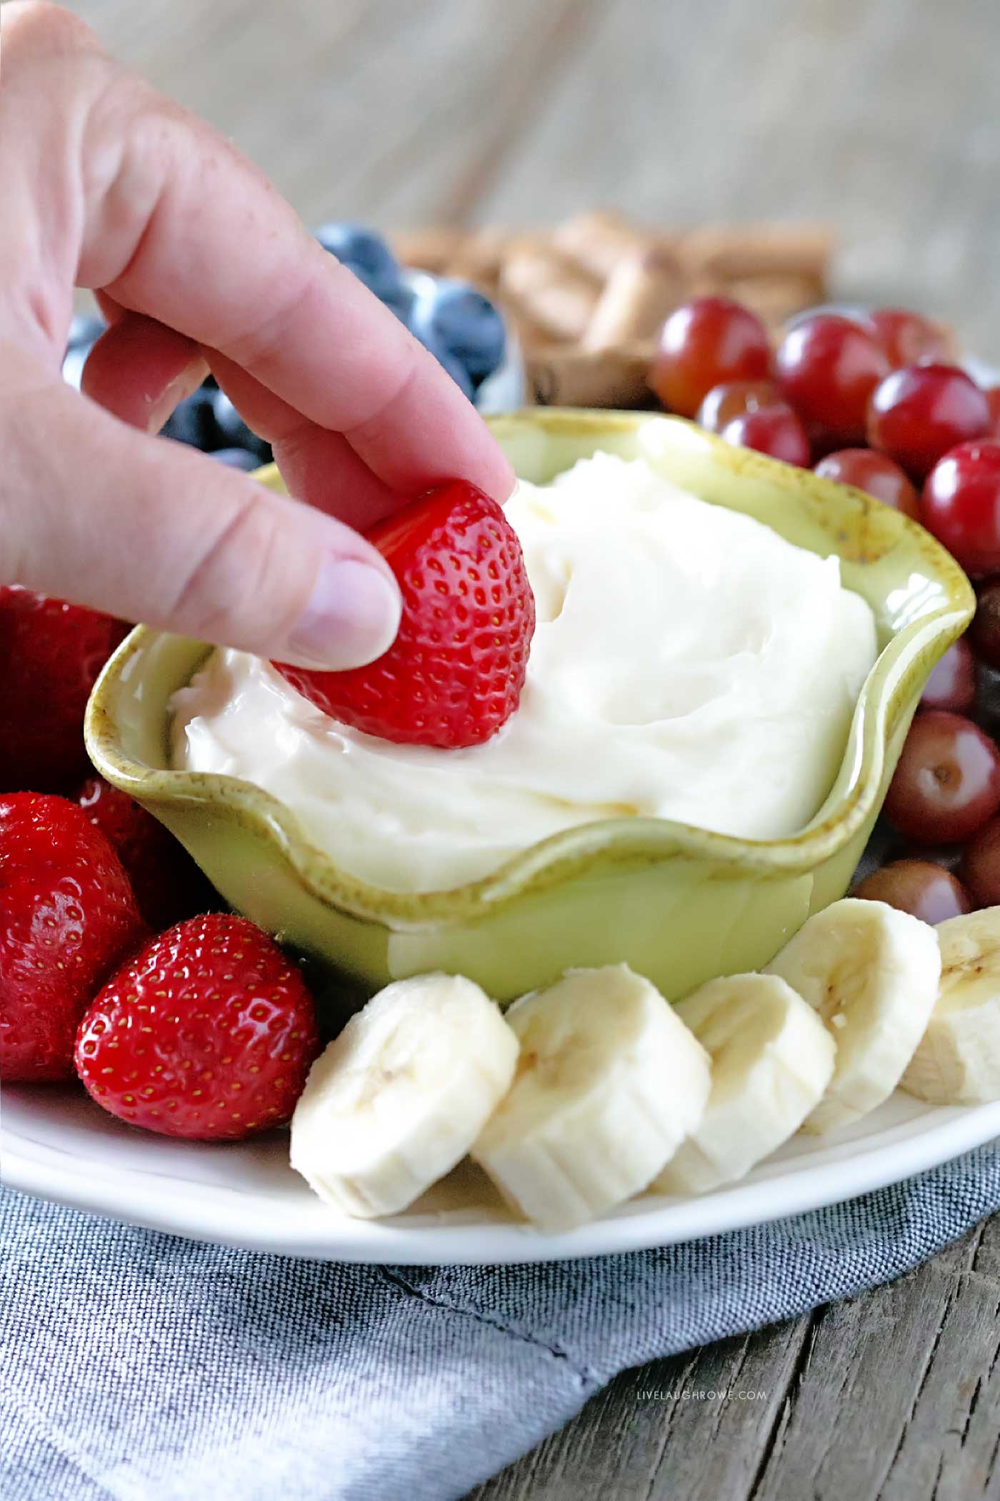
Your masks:
{"label": "blurred grey-beige wooden surface behind the fruit, across the top", "polygon": [[1000,357],[997,0],[70,0],[307,222],[822,221]]}

